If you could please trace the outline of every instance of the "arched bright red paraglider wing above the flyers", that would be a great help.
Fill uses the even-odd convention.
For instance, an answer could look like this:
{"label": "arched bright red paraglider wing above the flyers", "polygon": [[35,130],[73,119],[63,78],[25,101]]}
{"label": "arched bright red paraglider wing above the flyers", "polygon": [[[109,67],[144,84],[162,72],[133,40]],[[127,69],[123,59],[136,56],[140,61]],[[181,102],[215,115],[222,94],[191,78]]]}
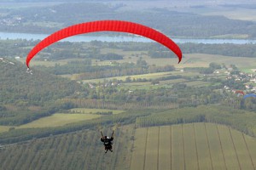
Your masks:
{"label": "arched bright red paraglider wing above the flyers", "polygon": [[120,31],[137,34],[143,37],[148,37],[156,42],[159,42],[173,51],[177,55],[178,62],[182,59],[182,51],[169,37],[156,31],[148,26],[143,26],[137,23],[123,21],[123,20],[97,20],[92,22],[85,22],[78,25],[68,26],[60,31],[55,31],[49,37],[44,38],[41,42],[32,48],[26,57],[26,66],[29,68],[30,60],[38,54],[39,51],[46,48],[54,42],[58,42],[66,37],[72,37],[78,34],[84,34],[95,31]]}

